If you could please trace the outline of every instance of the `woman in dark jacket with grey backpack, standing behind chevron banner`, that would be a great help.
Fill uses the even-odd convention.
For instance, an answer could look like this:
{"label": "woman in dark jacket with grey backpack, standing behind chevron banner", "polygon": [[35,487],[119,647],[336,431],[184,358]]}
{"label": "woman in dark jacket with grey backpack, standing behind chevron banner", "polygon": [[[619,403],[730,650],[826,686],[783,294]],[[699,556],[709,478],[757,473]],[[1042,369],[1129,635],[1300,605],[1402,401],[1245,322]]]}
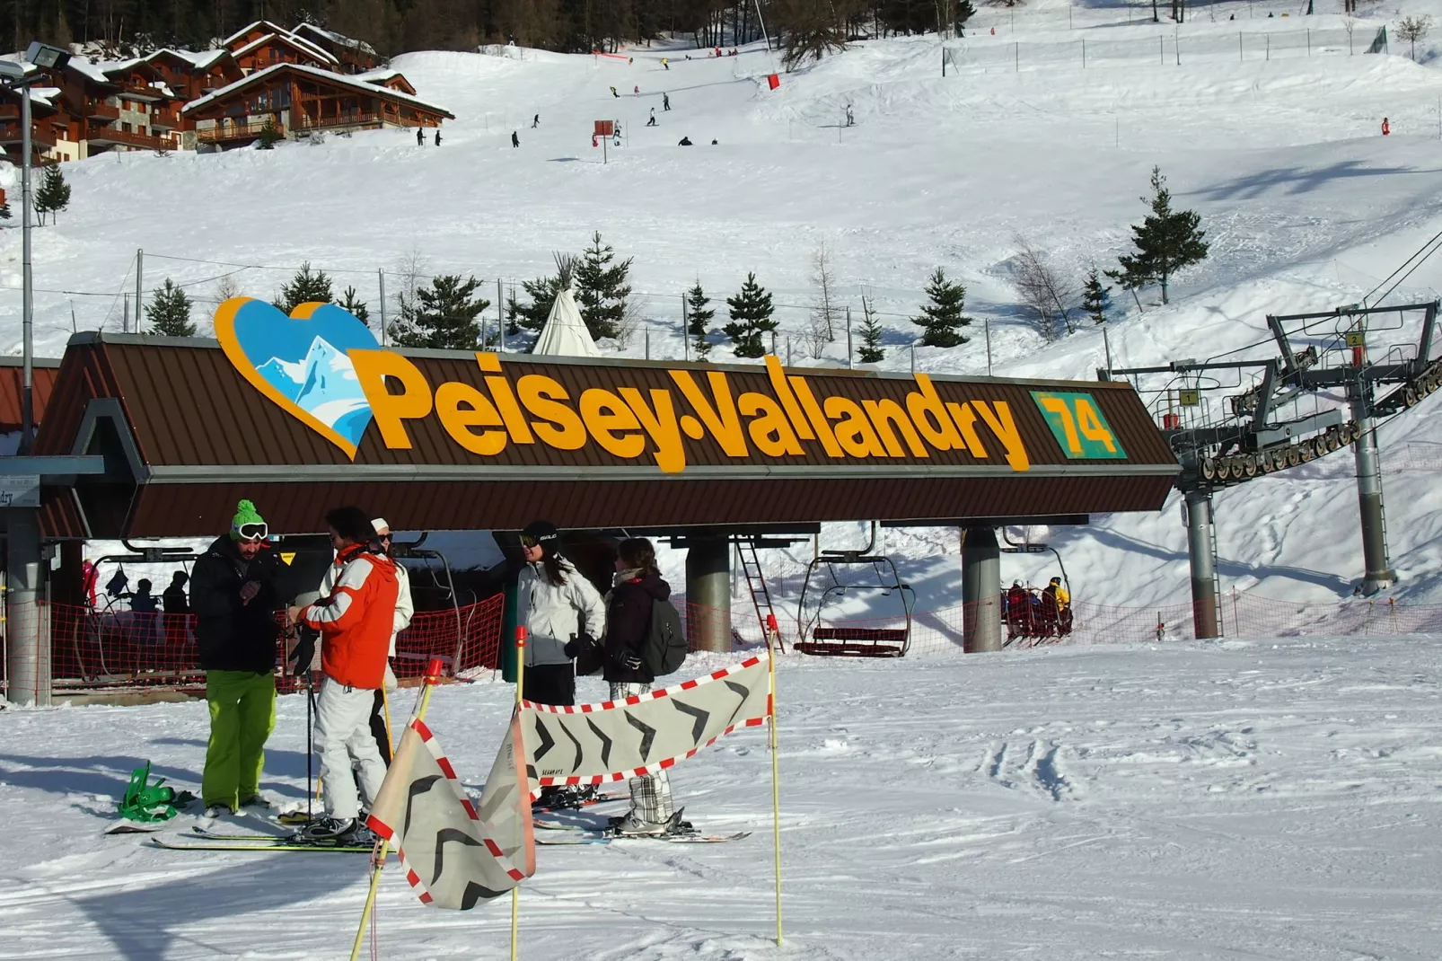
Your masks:
{"label": "woman in dark jacket with grey backpack, standing behind chevron banner", "polygon": [[[656,548],[645,537],[624,540],[616,548],[616,577],[606,602],[606,671],[611,700],[645,694],[656,680],[642,652],[650,632],[650,612],[671,597],[671,584],[656,570]],[[676,830],[671,781],[665,771],[630,779],[632,809],[611,818],[617,834],[665,834]]]}

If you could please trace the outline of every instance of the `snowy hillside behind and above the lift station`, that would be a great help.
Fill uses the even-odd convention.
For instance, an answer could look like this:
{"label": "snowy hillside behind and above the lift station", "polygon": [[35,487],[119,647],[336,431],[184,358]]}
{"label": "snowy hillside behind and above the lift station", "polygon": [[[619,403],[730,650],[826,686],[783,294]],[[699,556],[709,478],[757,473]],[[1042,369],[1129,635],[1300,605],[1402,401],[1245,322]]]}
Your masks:
{"label": "snowy hillside behind and above the lift station", "polygon": [[[623,348],[611,346],[629,355],[649,349],[679,359],[682,291],[699,280],[724,310],[721,300],[754,270],[780,304],[779,352],[813,362],[810,258],[825,242],[842,302],[859,317],[867,294],[881,313],[881,367],[910,368],[919,328],[907,317],[927,276],[945,266],[968,286],[975,336],[959,349],[917,349],[917,369],[986,372],[985,320],[995,374],[1090,378],[1103,361],[1099,333],[1045,343],[1021,309],[1011,263],[1018,238],[1077,278],[1093,263],[1115,263],[1142,214],[1152,164],[1177,202],[1203,215],[1211,257],[1178,278],[1169,306],[1144,296],[1139,310],[1116,299],[1126,316],[1110,332],[1115,362],[1237,351],[1265,341],[1269,312],[1358,300],[1442,228],[1435,46],[1419,48],[1425,65],[1399,55],[1406,51],[1396,39],[1390,56],[1347,55],[1332,42],[1306,56],[1278,39],[1273,59],[1185,59],[1188,43],[1231,43],[1240,33],[1295,39],[1317,30],[1335,39],[1344,30],[1338,16],[1256,7],[1293,16],[1259,19],[1247,4],[1223,3],[1181,27],[1066,30],[1060,20],[1028,26],[1022,17],[995,36],[978,27],[956,42],[1077,43],[1084,35],[1092,43],[1180,49],[1180,66],[1082,69],[1060,61],[943,78],[937,40],[910,38],[857,45],[783,75],[776,91],[764,82],[774,59],[758,46],[688,61],[684,48],[658,45],[630,51],[630,65],[534,51],[405,55],[395,65],[457,115],[438,147],[378,131],[270,153],[136,153],[68,164],[71,209],[36,232],[39,351],[62,349],[72,310],[79,329],[120,328],[137,248],[146,251],[146,290],[169,276],[202,304],[213,304],[222,284],[271,297],[310,261],[337,290],[353,286],[371,300],[375,317],[379,268],[392,296],[402,264],[418,261],[423,274],[473,273],[493,297],[497,278],[509,287],[541,276],[552,251],[580,250],[598,229],[620,255],[634,257],[643,326]],[[1428,4],[1405,6],[1413,7]],[[1227,20],[1231,13],[1239,20]],[[978,23],[999,23],[999,14],[983,14]],[[1370,42],[1393,19],[1376,9],[1357,36]],[[1018,48],[1018,65],[1024,55]],[[848,107],[854,127],[844,126]],[[653,108],[658,126],[646,127]],[[1377,136],[1384,115],[1393,130],[1386,139]],[[593,121],[603,118],[620,120],[624,131],[606,164],[591,146]],[[678,147],[682,136],[696,146]],[[4,297],[17,307],[19,231],[0,231],[0,260]],[[1442,263],[1429,261],[1392,302],[1430,299],[1436,289]],[[395,304],[388,309],[394,316]],[[17,313],[0,320],[12,351]],[[845,345],[822,354],[815,362],[844,362]],[[718,346],[712,356],[730,354]],[[1442,459],[1438,410],[1433,397],[1381,431],[1384,465],[1397,468],[1386,476],[1392,557],[1403,576],[1396,596],[1410,602],[1442,602],[1442,491],[1426,470],[1410,469]],[[1348,596],[1361,574],[1350,475],[1351,457],[1341,452],[1220,495],[1223,587],[1296,602]],[[923,587],[923,609],[957,602],[955,531],[887,538],[904,576]],[[1064,551],[1079,599],[1142,606],[1187,597],[1175,505],[1151,517],[1094,518],[1090,528],[1050,538]],[[844,543],[858,543],[857,531],[829,530],[822,547]],[[776,553],[766,563],[783,596],[793,590],[796,558]],[[1002,573],[1044,582],[1054,571],[1008,557]]]}

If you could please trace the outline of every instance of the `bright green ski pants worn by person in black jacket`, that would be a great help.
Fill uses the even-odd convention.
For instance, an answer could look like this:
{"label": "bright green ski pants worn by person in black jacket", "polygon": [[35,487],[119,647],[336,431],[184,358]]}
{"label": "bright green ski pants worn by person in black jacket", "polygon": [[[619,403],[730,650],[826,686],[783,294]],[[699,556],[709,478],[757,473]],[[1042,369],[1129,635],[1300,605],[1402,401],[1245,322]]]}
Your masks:
{"label": "bright green ski pants worn by person in black jacket", "polygon": [[200,798],[205,807],[238,811],[260,794],[265,739],[275,730],[275,675],[252,671],[206,671],[211,743],[205,749]]}

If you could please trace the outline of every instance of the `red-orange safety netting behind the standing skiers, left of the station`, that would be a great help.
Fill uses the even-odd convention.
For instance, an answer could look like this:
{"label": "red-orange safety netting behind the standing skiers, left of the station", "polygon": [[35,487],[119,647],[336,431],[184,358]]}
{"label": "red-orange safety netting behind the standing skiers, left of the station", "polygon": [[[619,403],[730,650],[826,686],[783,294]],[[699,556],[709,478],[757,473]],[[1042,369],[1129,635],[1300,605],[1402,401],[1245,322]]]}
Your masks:
{"label": "red-orange safety netting behind the standing skiers, left of the station", "polygon": [[[418,610],[397,638],[392,667],[401,680],[420,677],[431,658],[453,674],[500,665],[502,596],[447,610]],[[12,610],[12,622],[22,612]],[[50,671],[56,687],[203,687],[192,615],[92,610],[42,603],[42,636],[50,638]],[[45,628],[49,631],[45,631]],[[277,619],[277,661],[284,664],[286,639]],[[288,678],[281,681],[290,690]]]}

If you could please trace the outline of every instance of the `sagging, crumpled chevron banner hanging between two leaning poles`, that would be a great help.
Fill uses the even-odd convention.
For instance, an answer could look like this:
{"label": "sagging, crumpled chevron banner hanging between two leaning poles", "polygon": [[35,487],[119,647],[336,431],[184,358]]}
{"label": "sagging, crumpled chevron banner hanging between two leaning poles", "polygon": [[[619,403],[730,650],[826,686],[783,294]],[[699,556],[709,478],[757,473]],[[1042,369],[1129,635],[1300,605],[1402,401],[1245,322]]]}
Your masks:
{"label": "sagging, crumpled chevron banner hanging between two leaning poles", "polygon": [[480,814],[424,721],[405,729],[366,824],[397,846],[405,879],[424,903],[469,910],[535,873],[519,730],[512,716],[486,782],[487,814]]}

